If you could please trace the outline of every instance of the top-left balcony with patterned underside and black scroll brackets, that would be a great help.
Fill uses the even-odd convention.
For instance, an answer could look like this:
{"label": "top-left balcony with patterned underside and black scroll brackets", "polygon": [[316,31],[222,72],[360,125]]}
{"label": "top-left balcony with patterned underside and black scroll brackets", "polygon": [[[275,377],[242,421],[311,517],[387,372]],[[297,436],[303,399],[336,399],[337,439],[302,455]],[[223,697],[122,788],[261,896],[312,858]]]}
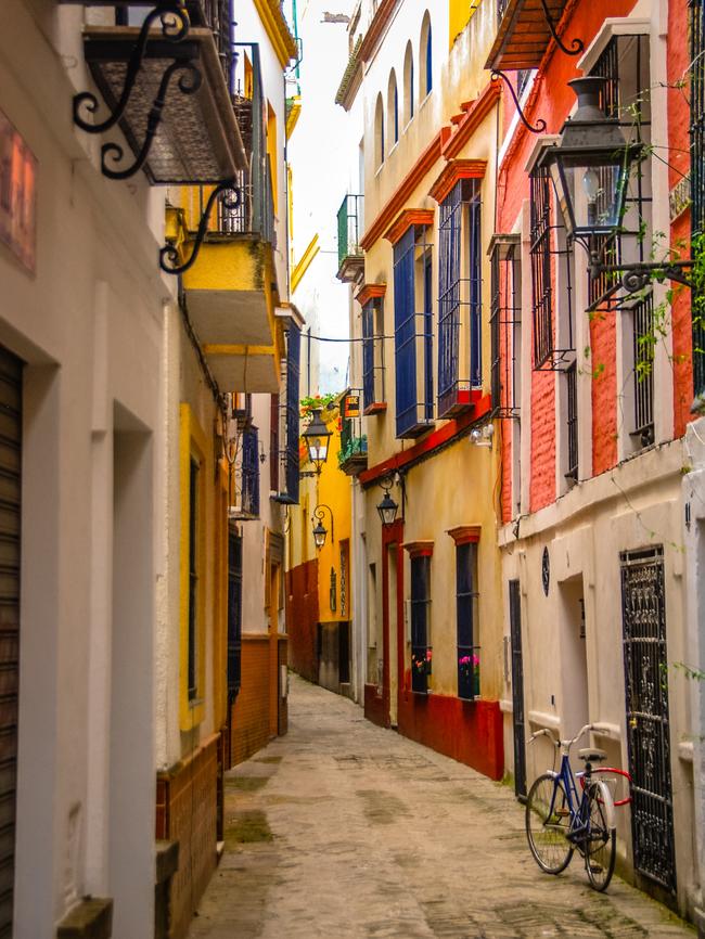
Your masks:
{"label": "top-left balcony with patterned underside and black scroll brackets", "polygon": [[142,169],[152,185],[234,178],[247,162],[231,101],[231,0],[188,0],[179,16],[134,5],[118,3],[115,25],[84,31],[102,103],[76,95],[75,123],[90,133],[117,127],[127,143],[103,144],[103,175]]}

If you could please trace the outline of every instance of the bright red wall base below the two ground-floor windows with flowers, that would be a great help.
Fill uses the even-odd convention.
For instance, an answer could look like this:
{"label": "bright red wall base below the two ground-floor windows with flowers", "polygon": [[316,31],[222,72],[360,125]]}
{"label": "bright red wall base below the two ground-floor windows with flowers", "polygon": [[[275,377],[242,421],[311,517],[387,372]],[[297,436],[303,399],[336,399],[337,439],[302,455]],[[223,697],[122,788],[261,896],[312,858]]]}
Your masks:
{"label": "bright red wall base below the two ground-floor windows with flowers", "polygon": [[499,702],[464,702],[403,692],[399,698],[399,733],[466,763],[490,780],[502,779],[504,745]]}

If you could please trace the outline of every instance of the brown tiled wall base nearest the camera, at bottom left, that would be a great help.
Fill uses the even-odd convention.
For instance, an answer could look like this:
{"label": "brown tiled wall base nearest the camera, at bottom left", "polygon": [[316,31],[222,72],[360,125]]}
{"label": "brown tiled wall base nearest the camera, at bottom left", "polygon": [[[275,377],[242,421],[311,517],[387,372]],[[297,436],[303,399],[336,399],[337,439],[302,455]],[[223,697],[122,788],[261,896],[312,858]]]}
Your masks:
{"label": "brown tiled wall base nearest the camera, at bottom left", "polygon": [[179,842],[171,880],[171,939],[187,935],[216,869],[218,734],[156,780],[156,837]]}

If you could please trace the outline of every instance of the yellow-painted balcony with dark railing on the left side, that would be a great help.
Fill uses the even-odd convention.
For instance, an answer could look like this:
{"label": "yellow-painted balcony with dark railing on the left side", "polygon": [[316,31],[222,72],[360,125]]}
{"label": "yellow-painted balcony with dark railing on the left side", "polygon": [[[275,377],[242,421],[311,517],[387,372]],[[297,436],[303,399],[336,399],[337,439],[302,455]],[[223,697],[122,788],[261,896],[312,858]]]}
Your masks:
{"label": "yellow-painted balcony with dark railing on the left side", "polygon": [[[249,166],[235,175],[238,197],[226,192],[217,201],[197,262],[183,272],[183,298],[218,385],[277,394],[286,313],[278,311],[273,184],[259,50],[256,44],[236,48],[234,113]],[[178,205],[167,211],[167,240],[181,258],[191,257],[197,245],[209,195],[207,189],[174,194]]]}

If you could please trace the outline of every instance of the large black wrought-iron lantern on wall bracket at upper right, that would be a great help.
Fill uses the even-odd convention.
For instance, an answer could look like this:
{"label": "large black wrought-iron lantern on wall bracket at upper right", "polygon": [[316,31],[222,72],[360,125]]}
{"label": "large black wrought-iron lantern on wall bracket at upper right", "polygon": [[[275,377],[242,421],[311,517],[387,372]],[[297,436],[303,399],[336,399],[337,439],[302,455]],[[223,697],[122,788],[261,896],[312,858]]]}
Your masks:
{"label": "large black wrought-iron lantern on wall bracket at upper right", "polygon": [[690,286],[685,270],[690,260],[603,263],[601,248],[623,233],[627,188],[632,166],[643,156],[643,146],[629,142],[617,118],[605,117],[600,93],[607,79],[575,78],[568,85],[578,98],[578,108],[563,125],[561,140],[547,147],[540,166],[553,179],[557,203],[569,239],[579,241],[590,255],[590,275],[619,273],[631,293],[656,279],[670,279]]}

